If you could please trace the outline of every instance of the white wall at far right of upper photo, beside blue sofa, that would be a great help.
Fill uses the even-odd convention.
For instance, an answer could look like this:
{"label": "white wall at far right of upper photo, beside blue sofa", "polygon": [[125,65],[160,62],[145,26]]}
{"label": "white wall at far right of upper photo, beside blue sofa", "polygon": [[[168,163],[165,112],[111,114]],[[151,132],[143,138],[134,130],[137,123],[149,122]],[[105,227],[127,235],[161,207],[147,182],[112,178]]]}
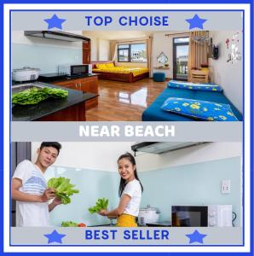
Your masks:
{"label": "white wall at far right of upper photo, beside blue sofa", "polygon": [[[232,37],[234,33],[239,32],[238,47],[242,55],[242,32],[240,31],[216,31],[211,32],[210,36],[213,44],[219,47],[219,58],[210,59],[211,81],[222,86],[225,96],[234,104],[236,108],[243,112],[243,60],[228,61],[228,54],[232,46]],[[227,49],[226,40],[230,40],[229,49]]]}

